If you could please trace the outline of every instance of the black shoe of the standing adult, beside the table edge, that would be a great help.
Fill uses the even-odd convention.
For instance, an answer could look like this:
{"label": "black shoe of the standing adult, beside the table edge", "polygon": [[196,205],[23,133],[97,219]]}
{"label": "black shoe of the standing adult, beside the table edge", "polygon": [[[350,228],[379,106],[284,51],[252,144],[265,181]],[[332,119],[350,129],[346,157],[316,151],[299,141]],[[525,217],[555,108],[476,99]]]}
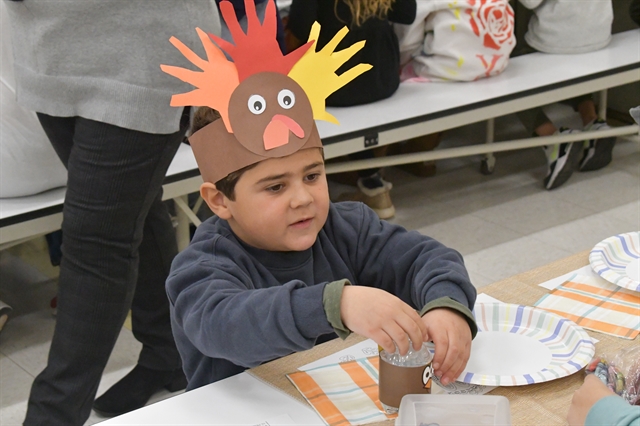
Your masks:
{"label": "black shoe of the standing adult, beside the table edge", "polygon": [[93,402],[93,411],[104,417],[115,417],[144,407],[162,388],[177,392],[187,387],[182,369],[151,370],[136,365],[118,383]]}

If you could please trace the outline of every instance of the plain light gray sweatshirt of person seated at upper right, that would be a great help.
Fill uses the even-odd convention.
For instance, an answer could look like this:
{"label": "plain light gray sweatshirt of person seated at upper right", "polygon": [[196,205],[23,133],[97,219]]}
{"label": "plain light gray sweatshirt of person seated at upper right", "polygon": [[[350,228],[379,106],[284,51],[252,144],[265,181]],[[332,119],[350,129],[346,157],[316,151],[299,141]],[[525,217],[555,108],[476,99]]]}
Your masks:
{"label": "plain light gray sweatshirt of person seated at upper right", "polygon": [[520,0],[533,9],[524,39],[540,52],[583,53],[611,41],[611,0]]}

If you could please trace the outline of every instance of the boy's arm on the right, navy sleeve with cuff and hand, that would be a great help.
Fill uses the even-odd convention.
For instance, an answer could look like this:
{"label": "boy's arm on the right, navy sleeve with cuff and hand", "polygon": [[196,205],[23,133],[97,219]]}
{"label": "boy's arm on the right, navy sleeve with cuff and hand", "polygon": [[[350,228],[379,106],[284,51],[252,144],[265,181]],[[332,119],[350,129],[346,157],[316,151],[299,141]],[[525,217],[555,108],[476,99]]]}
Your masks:
{"label": "boy's arm on the right, navy sleeve with cuff and hand", "polygon": [[[432,238],[379,220],[362,204],[343,204],[339,210],[350,224],[340,232],[343,244],[356,241],[349,251],[356,284],[385,290],[420,310],[424,337],[436,344],[434,363],[445,381],[455,379],[477,332],[471,314],[476,290],[462,256]],[[350,235],[351,229],[356,235]]]}

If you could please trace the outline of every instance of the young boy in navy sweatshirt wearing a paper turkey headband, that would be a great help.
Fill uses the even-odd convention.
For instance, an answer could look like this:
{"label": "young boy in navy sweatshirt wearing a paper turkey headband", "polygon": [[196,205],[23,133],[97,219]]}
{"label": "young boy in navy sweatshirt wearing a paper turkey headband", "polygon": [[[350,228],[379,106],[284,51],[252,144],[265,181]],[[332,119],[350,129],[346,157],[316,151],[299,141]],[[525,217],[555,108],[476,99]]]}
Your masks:
{"label": "young boy in navy sweatshirt wearing a paper turkey headband", "polygon": [[[179,42],[174,45],[202,69],[213,70],[211,78],[163,66],[199,87],[172,103],[207,98],[206,105],[220,116],[215,120],[218,114],[201,108],[194,122],[204,127],[190,137],[205,180],[200,193],[216,216],[199,226],[167,280],[187,389],[350,332],[387,351],[397,345],[403,354],[409,339],[416,349],[432,340],[435,373],[447,384],[464,369],[477,330],[470,311],[476,291],[462,257],[429,237],[381,221],[361,203],[330,203],[313,118],[333,119],[324,99],[366,67],[335,74],[358,48],[332,53],[339,34],[320,52],[315,42],[296,51],[294,65],[278,68],[285,77],[270,70],[296,52],[278,56],[262,35],[253,44],[262,43],[260,53],[269,50],[272,58],[269,65],[252,62],[248,72],[242,68],[244,55],[257,53],[243,53],[240,46],[273,25],[269,3],[264,26],[250,20],[257,28],[250,27],[246,39],[221,3],[236,44],[214,40],[233,57],[237,78],[229,68],[220,71],[229,65],[206,37],[201,39],[208,63]],[[247,15],[255,16],[252,2],[245,6]],[[314,27],[310,40],[318,31]],[[255,69],[261,66],[270,68]],[[331,72],[323,73],[326,69]],[[198,85],[203,81],[219,87]],[[223,84],[233,84],[233,91],[222,90]]]}

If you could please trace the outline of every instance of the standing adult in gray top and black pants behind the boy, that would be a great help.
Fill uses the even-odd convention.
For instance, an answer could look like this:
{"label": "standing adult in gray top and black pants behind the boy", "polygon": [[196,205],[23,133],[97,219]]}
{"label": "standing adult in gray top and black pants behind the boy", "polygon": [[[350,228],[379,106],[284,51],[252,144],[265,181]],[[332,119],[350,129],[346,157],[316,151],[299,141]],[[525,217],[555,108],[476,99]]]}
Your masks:
{"label": "standing adult in gray top and black pants behind the boy", "polygon": [[[68,171],[56,325],[24,424],[82,425],[186,379],[164,282],[177,244],[162,183],[189,125],[169,106],[188,87],[159,64],[183,58],[169,38],[219,34],[213,2],[6,2],[17,100],[34,110]],[[126,49],[125,49],[126,47]],[[94,402],[132,312],[137,365]]]}

